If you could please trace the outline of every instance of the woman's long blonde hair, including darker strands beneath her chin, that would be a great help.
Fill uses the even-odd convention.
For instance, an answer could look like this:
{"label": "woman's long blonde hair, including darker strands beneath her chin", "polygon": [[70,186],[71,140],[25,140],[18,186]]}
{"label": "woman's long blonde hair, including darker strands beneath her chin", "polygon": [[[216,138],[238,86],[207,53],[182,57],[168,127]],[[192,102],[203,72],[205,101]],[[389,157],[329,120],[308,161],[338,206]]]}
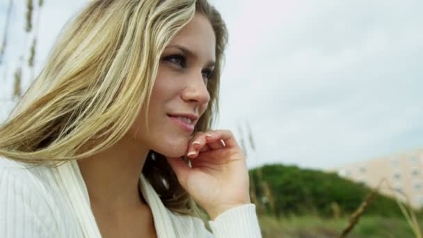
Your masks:
{"label": "woman's long blonde hair, including darker strands beneath her chin", "polygon": [[[45,67],[1,125],[0,156],[60,166],[118,142],[138,112],[148,111],[163,49],[196,12],[216,35],[211,100],[195,132],[211,128],[228,41],[216,9],[207,0],[98,0],[63,29]],[[93,146],[85,148],[88,143]],[[199,216],[163,155],[150,151],[143,174],[168,209]]]}

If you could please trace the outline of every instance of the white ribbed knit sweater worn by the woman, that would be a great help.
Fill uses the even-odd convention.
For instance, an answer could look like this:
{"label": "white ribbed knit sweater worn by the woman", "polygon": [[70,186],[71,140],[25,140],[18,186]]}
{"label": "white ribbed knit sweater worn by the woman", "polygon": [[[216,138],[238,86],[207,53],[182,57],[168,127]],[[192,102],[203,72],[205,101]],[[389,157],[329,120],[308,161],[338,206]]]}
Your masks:
{"label": "white ribbed knit sweater worn by the woman", "polygon": [[[0,237],[101,237],[77,161],[58,168],[0,157]],[[262,237],[255,205],[242,205],[209,221],[171,212],[141,174],[157,237]]]}

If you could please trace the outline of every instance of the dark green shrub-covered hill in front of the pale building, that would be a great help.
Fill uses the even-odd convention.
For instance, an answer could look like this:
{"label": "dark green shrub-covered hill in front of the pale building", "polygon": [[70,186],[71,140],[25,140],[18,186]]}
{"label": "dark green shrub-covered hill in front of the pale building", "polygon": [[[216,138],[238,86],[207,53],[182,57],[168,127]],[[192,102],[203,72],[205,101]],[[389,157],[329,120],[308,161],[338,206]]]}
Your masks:
{"label": "dark green shrub-covered hill in front of the pale building", "polygon": [[[369,189],[336,173],[273,164],[250,170],[252,199],[257,212],[269,216],[349,216]],[[376,194],[366,215],[402,217],[397,202]]]}

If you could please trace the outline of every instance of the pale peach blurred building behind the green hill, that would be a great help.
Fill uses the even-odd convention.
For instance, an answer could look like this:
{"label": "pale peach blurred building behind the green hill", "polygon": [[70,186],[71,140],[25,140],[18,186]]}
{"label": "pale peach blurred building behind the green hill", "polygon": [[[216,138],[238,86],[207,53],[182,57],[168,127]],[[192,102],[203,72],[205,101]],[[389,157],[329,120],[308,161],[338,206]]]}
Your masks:
{"label": "pale peach blurred building behind the green hill", "polygon": [[376,188],[388,196],[408,201],[415,208],[423,207],[423,148],[391,154],[368,161],[347,164],[334,170],[341,177]]}

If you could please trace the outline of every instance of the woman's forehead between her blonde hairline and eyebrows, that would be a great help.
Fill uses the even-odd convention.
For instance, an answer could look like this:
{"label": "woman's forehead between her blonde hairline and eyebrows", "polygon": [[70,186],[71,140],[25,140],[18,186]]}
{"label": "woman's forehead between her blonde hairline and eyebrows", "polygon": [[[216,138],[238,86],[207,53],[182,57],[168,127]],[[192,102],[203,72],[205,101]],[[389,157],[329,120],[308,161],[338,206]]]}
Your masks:
{"label": "woman's forehead between her blonde hairline and eyebrows", "polygon": [[169,45],[182,46],[206,61],[214,61],[216,36],[209,20],[204,15],[195,13],[191,22],[177,33]]}

